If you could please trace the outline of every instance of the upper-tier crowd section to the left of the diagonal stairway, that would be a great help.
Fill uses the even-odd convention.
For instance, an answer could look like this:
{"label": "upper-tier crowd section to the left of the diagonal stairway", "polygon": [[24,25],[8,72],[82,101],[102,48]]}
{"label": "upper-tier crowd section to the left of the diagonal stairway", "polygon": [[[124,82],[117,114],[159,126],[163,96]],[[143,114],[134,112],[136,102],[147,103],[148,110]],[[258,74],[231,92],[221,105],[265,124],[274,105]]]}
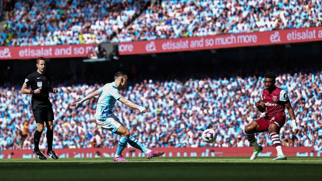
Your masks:
{"label": "upper-tier crowd section to the left of the diagonal stairway", "polygon": [[147,1],[15,1],[1,45],[105,43],[125,28]]}

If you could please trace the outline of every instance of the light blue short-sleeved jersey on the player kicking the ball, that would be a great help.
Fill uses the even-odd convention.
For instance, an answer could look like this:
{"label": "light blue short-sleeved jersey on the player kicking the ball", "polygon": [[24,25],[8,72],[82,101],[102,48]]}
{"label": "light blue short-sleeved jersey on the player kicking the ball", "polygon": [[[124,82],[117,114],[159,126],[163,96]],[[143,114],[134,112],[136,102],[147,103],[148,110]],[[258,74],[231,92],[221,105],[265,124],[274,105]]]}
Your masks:
{"label": "light blue short-sleeved jersey on the player kicking the ball", "polygon": [[97,101],[96,119],[105,120],[112,115],[112,109],[116,101],[123,97],[115,85],[115,82],[105,84],[99,89],[101,95]]}

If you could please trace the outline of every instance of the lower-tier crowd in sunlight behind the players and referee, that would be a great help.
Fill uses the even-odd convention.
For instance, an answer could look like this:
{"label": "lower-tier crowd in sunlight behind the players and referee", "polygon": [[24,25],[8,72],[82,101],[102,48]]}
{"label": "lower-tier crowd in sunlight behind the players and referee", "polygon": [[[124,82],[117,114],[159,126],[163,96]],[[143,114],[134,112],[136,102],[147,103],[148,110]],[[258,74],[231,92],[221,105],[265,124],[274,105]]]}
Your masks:
{"label": "lower-tier crowd in sunlight behind the players and referee", "polygon": [[[313,146],[322,149],[322,71],[280,74],[276,85],[288,91],[299,133],[292,135],[291,121],[280,130],[282,146]],[[58,86],[58,94],[50,94],[53,105],[53,148],[116,148],[117,135],[110,135],[95,121],[97,98],[75,109],[75,100],[99,89],[103,84]],[[17,87],[0,87],[0,148],[33,148],[36,129],[29,96]],[[244,127],[263,116],[255,107],[260,98],[263,77],[231,77],[188,79],[187,81],[144,80],[132,83],[121,94],[146,106],[148,112],[122,105],[113,110],[134,137],[147,147],[248,147],[251,146]],[[287,110],[286,110],[287,112]],[[204,129],[217,132],[216,142],[206,144]],[[46,134],[46,128],[43,134]],[[256,134],[262,146],[271,146],[267,132]],[[46,147],[46,137],[40,148]],[[128,145],[128,147],[130,147]]]}

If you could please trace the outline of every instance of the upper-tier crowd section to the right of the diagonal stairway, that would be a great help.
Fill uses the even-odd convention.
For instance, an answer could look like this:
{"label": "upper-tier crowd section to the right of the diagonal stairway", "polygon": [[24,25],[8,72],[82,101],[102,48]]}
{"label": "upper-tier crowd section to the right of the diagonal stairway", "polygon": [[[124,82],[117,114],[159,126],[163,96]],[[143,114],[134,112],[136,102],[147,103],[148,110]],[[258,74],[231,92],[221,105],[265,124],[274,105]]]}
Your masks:
{"label": "upper-tier crowd section to the right of the diagonal stairway", "polygon": [[321,26],[321,1],[163,0],[113,40],[128,42]]}

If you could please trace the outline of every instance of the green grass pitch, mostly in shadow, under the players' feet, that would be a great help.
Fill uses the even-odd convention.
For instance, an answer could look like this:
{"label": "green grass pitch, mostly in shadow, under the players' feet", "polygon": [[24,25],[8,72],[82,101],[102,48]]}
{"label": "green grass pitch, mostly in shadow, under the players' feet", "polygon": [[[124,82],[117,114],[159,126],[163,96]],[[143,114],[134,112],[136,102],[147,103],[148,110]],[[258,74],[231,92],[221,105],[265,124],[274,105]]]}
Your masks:
{"label": "green grass pitch, mostly in shadow, under the players' feet", "polygon": [[0,180],[322,180],[322,157],[128,157],[0,159]]}

